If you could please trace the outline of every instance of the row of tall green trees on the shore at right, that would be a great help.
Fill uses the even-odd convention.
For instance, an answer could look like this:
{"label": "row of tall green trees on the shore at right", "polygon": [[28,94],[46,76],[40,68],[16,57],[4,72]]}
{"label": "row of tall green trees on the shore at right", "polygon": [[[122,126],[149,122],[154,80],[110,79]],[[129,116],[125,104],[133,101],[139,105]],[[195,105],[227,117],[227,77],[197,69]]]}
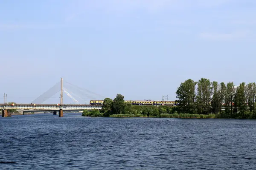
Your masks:
{"label": "row of tall green trees on the shore at right", "polygon": [[[198,82],[187,79],[176,91],[179,113],[219,113],[227,118],[244,118],[255,114],[256,84],[242,82],[238,87],[233,82],[211,82],[201,78]],[[224,110],[223,110],[224,108]]]}

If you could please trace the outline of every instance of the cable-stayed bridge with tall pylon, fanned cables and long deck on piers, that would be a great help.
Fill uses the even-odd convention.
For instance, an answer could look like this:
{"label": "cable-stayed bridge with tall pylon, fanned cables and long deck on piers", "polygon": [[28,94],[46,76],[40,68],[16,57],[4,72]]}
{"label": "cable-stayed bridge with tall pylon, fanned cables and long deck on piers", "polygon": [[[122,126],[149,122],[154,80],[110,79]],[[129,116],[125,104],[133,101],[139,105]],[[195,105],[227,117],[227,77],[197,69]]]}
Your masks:
{"label": "cable-stayed bridge with tall pylon, fanned cables and long deck on piers", "polygon": [[[65,86],[64,86],[65,85]],[[70,89],[73,89],[70,91]],[[44,104],[48,99],[52,98],[52,96],[58,94],[60,92],[60,102],[56,104]],[[75,102],[75,104],[64,104],[63,103],[63,92],[67,94],[70,99]],[[30,104],[19,104],[19,103],[12,103],[12,104],[0,104],[0,109],[3,109],[2,116],[8,116],[9,109],[19,109],[22,112],[35,112],[35,111],[54,111],[54,114],[59,112],[59,116],[63,116],[63,111],[83,111],[85,109],[92,110],[92,109],[101,109],[102,105],[90,105],[85,99],[96,99],[96,97],[105,98],[99,94],[96,94],[92,91],[87,89],[81,88],[79,86],[73,85],[69,82],[63,82],[63,78],[61,81],[57,82],[54,86],[49,88],[46,92],[40,95],[38,98],[33,100]],[[79,102],[80,100],[80,102]],[[84,104],[81,104],[81,100]]]}

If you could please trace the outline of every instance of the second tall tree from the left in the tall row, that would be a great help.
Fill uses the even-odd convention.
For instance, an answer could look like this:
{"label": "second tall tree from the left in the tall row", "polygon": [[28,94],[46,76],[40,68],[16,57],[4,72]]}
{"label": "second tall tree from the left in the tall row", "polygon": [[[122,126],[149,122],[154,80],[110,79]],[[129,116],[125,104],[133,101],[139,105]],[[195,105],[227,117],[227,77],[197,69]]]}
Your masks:
{"label": "second tall tree from the left in the tall row", "polygon": [[198,106],[198,113],[209,113],[210,101],[212,95],[212,86],[209,79],[201,78],[198,81],[196,102]]}

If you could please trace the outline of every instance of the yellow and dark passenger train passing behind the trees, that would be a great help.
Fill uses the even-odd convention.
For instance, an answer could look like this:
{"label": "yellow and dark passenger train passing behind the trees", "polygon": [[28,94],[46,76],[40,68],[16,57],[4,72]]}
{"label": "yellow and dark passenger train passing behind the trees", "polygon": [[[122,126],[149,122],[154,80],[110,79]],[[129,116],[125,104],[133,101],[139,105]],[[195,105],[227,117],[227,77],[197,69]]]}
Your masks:
{"label": "yellow and dark passenger train passing behind the trees", "polygon": [[[103,105],[103,100],[90,100],[90,105]],[[125,102],[131,103],[131,105],[178,105],[176,101],[151,101],[151,100],[125,100]]]}

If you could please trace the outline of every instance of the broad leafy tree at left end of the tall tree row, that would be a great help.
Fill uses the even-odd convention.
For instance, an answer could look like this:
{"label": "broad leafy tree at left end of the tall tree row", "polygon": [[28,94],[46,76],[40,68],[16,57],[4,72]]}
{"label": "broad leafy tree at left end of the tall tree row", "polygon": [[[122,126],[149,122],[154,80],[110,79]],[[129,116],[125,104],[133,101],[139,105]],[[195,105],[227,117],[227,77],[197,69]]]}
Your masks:
{"label": "broad leafy tree at left end of the tall tree row", "polygon": [[181,111],[195,113],[195,85],[192,79],[182,82],[176,91]]}

